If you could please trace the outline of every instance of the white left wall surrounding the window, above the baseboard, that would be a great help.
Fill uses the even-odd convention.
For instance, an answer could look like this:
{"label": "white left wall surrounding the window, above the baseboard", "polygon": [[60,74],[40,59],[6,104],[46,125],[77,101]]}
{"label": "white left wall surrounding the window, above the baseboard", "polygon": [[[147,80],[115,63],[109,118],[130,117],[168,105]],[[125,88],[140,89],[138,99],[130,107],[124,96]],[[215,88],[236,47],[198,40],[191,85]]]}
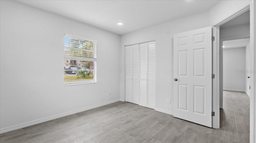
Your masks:
{"label": "white left wall surrounding the window, above the baseboard", "polygon": [[[15,1],[0,3],[0,130],[120,100],[120,36]],[[64,86],[64,33],[98,41],[97,83]]]}

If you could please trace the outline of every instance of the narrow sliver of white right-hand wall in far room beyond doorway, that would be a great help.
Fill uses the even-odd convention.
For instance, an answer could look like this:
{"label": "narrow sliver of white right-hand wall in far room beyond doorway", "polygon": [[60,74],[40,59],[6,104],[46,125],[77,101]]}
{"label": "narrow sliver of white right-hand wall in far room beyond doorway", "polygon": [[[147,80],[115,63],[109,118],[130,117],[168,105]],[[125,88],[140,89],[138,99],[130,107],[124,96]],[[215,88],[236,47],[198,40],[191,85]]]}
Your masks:
{"label": "narrow sliver of white right-hand wall in far room beyond doorway", "polygon": [[[245,70],[250,71],[250,43],[248,43],[245,47]],[[246,72],[245,74],[245,92],[248,96],[250,96],[250,72]]]}

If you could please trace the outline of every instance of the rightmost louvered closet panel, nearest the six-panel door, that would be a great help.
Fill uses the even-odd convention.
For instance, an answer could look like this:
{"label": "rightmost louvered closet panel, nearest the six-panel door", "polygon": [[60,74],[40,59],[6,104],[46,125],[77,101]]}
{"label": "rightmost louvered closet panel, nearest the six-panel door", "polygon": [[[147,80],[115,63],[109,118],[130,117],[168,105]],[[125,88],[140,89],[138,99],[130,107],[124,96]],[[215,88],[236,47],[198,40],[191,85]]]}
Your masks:
{"label": "rightmost louvered closet panel, nearest the six-panel door", "polygon": [[156,42],[148,43],[148,108],[156,108]]}

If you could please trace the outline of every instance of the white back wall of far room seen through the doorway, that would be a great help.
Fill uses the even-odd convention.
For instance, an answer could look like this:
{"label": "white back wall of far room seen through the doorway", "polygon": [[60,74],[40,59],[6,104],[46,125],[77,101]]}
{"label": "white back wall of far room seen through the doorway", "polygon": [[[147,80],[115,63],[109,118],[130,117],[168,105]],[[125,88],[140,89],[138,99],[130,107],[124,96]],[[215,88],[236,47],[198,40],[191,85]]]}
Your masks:
{"label": "white back wall of far room seen through the doorway", "polygon": [[223,49],[223,90],[245,91],[245,47]]}

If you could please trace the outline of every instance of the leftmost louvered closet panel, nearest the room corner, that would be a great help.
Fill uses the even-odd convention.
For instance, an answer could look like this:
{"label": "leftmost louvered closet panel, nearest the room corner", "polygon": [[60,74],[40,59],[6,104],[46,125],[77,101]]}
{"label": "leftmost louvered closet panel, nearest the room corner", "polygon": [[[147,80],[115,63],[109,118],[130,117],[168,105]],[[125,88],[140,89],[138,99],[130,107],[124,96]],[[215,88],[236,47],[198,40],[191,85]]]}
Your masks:
{"label": "leftmost louvered closet panel, nearest the room corner", "polygon": [[125,47],[125,100],[132,102],[132,46]]}

